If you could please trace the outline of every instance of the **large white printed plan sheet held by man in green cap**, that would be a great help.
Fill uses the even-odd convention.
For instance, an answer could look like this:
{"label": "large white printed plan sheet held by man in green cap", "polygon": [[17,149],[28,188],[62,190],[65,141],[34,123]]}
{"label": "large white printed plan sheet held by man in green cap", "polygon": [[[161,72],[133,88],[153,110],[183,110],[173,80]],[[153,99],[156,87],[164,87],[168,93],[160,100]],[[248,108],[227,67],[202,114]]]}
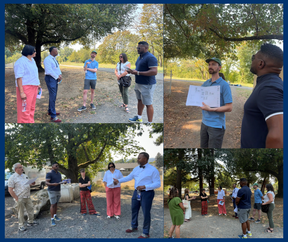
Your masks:
{"label": "large white printed plan sheet held by man in green cap", "polygon": [[186,106],[203,107],[202,102],[209,107],[220,107],[220,86],[200,87],[190,85]]}

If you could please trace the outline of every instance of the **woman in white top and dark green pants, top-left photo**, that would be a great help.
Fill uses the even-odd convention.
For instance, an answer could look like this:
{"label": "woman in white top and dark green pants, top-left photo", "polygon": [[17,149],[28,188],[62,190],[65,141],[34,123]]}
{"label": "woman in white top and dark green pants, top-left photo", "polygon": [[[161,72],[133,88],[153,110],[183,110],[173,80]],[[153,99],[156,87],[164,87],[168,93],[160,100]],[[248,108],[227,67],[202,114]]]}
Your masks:
{"label": "woman in white top and dark green pants, top-left photo", "polygon": [[[120,61],[117,63],[115,68],[115,75],[117,76],[117,83],[123,99],[123,104],[120,107],[121,108],[125,107],[126,112],[129,113],[130,111],[128,109],[128,87],[121,86],[119,79],[122,76],[130,76],[130,74],[128,74],[128,72],[125,70],[124,66],[131,68],[131,63],[128,61],[127,55],[125,53],[119,55],[119,60]],[[121,70],[119,69],[120,63],[121,63]]]}

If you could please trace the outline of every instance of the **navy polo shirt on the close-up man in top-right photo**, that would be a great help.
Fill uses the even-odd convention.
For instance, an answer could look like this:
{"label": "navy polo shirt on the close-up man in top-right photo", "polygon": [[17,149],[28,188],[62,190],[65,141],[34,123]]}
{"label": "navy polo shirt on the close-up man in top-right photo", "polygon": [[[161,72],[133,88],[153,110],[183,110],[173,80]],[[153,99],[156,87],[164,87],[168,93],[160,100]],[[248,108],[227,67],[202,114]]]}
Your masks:
{"label": "navy polo shirt on the close-up man in top-right photo", "polygon": [[241,148],[265,148],[266,120],[277,114],[283,114],[283,81],[275,73],[258,76],[257,84],[244,104]]}

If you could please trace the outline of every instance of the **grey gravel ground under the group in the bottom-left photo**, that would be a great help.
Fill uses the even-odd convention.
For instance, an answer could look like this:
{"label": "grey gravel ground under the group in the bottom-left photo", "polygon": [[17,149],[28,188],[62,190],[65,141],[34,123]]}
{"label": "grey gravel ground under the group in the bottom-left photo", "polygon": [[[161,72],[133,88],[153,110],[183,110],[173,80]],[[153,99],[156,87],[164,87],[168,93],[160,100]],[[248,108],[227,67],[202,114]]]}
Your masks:
{"label": "grey gravel ground under the group in the bottom-left photo", "polygon": [[[95,194],[95,193],[92,193]],[[18,230],[18,219],[5,216],[5,238],[137,238],[142,234],[143,213],[138,216],[138,231],[125,233],[131,226],[131,197],[133,191],[121,191],[120,220],[106,217],[106,193],[96,193],[92,196],[93,204],[101,216],[80,214],[80,198],[71,203],[60,203],[57,215],[62,221],[56,221],[56,226],[50,224],[50,212],[42,211],[34,220],[37,226],[26,226],[27,231]],[[11,196],[10,196],[11,197]],[[6,202],[7,200],[7,202]],[[9,207],[9,195],[5,196],[5,204]],[[13,200],[13,198],[12,198]],[[5,205],[6,209],[6,205]],[[6,210],[5,210],[6,215]],[[25,224],[27,221],[25,221]],[[163,192],[155,191],[151,209],[151,238],[163,238]]]}

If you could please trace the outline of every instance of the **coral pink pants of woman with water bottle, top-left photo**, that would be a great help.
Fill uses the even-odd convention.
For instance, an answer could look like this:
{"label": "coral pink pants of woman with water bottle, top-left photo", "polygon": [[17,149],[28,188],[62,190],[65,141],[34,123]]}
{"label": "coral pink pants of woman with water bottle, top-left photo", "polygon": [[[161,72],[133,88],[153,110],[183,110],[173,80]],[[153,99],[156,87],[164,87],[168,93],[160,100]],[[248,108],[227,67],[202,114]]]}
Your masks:
{"label": "coral pink pants of woman with water bottle, top-left photo", "polygon": [[24,85],[23,91],[26,94],[26,111],[22,112],[22,100],[20,96],[20,90],[16,87],[17,95],[17,123],[35,123],[34,112],[36,104],[36,96],[38,86],[35,85]]}

